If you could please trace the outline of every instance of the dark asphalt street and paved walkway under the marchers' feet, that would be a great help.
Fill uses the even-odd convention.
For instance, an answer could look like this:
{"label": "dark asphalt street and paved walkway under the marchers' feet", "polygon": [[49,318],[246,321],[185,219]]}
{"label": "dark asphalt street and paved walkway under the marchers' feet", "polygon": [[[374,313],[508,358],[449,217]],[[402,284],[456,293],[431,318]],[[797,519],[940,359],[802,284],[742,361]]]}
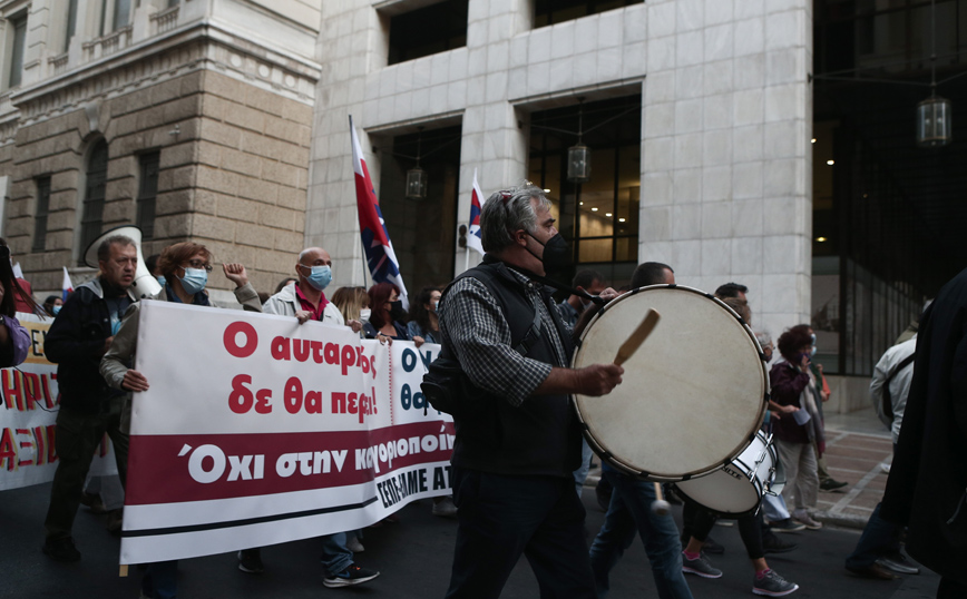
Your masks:
{"label": "dark asphalt street and paved walkway under the marchers' feet", "polygon": [[[834,478],[850,484],[843,492],[820,493],[826,526],[782,538],[798,543],[795,551],[768,556],[769,564],[800,586],[798,599],[927,599],[936,596],[939,577],[922,569],[919,576],[893,581],[868,580],[847,572],[843,560],[859,540],[860,520],[876,505],[886,474],[879,463],[889,456],[890,440],[878,421],[851,414],[828,419],[829,468]],[[0,599],[87,599],[138,597],[141,571],[130,569],[118,576],[119,539],[104,529],[104,517],[81,508],[75,538],[82,560],[57,563],[40,552],[42,522],[50,485],[39,484],[0,492]],[[594,490],[584,489],[588,540],[600,528],[603,511]],[[430,514],[432,503],[418,501],[403,508],[400,523],[367,529],[365,552],[356,561],[382,573],[375,580],[352,588],[326,589],[319,564],[320,546],[314,539],[263,549],[266,571],[246,575],[237,570],[234,553],[208,556],[179,562],[179,598],[286,598],[388,597],[417,599],[443,597],[449,581],[456,539],[456,522]],[[681,527],[681,508],[673,508]],[[706,580],[688,576],[696,599],[750,598],[752,568],[735,527],[715,527],[712,536],[725,547],[722,556],[710,556],[724,576]],[[521,559],[501,595],[507,599],[539,596],[527,560]],[[657,597],[647,557],[639,541],[627,549],[612,572],[612,599]]]}

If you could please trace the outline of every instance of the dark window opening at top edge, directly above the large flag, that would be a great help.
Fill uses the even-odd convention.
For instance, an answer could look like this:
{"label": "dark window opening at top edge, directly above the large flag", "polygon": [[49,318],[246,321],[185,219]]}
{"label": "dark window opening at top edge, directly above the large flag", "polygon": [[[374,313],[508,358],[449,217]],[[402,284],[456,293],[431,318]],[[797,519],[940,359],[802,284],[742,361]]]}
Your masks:
{"label": "dark window opening at top edge, directly above the large flag", "polygon": [[468,0],[447,0],[390,18],[388,63],[467,46]]}

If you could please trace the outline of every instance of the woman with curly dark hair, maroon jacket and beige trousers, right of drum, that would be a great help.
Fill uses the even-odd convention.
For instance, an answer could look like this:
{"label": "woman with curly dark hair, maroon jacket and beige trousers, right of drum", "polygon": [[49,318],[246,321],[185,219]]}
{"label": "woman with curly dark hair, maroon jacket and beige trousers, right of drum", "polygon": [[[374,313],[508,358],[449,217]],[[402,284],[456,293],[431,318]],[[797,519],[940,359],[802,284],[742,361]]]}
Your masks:
{"label": "woman with curly dark hair, maroon jacket and beige trousers, right of drum", "polygon": [[[773,424],[775,449],[785,467],[787,483],[782,497],[794,504],[792,519],[810,530],[822,528],[807,511],[814,508],[819,477],[814,445],[822,448],[819,392],[809,370],[812,336],[808,326],[793,326],[779,337],[782,356],[769,373],[772,402],[782,412]],[[792,407],[792,410],[790,410]],[[793,503],[794,502],[794,503]]]}

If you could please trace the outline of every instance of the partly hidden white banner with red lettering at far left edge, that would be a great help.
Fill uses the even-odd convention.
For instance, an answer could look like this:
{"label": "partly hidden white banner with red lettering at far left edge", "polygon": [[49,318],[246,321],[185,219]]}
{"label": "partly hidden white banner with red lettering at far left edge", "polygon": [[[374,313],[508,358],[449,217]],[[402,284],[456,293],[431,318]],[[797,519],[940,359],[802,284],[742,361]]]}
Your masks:
{"label": "partly hidden white banner with red lettering at far left edge", "polygon": [[[0,369],[0,491],[53,480],[57,470],[56,426],[60,409],[57,364],[43,352],[53,318],[17,313],[30,334],[27,361]],[[114,449],[105,436],[91,462],[91,474],[117,472]]]}

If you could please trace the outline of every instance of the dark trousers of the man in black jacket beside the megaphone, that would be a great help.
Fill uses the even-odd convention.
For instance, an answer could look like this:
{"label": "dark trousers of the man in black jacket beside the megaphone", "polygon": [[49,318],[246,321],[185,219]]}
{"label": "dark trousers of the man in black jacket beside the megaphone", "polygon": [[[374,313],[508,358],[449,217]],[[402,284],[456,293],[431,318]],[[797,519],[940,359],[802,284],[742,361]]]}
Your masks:
{"label": "dark trousers of the man in black jacket beside the megaphone", "polygon": [[90,461],[97,452],[106,432],[114,443],[118,474],[121,484],[127,480],[128,435],[120,432],[120,415],[124,397],[115,397],[108,412],[80,414],[61,409],[57,414],[55,448],[57,449],[57,471],[50,489],[50,507],[43,529],[48,542],[70,537],[84,481],[90,470]]}

